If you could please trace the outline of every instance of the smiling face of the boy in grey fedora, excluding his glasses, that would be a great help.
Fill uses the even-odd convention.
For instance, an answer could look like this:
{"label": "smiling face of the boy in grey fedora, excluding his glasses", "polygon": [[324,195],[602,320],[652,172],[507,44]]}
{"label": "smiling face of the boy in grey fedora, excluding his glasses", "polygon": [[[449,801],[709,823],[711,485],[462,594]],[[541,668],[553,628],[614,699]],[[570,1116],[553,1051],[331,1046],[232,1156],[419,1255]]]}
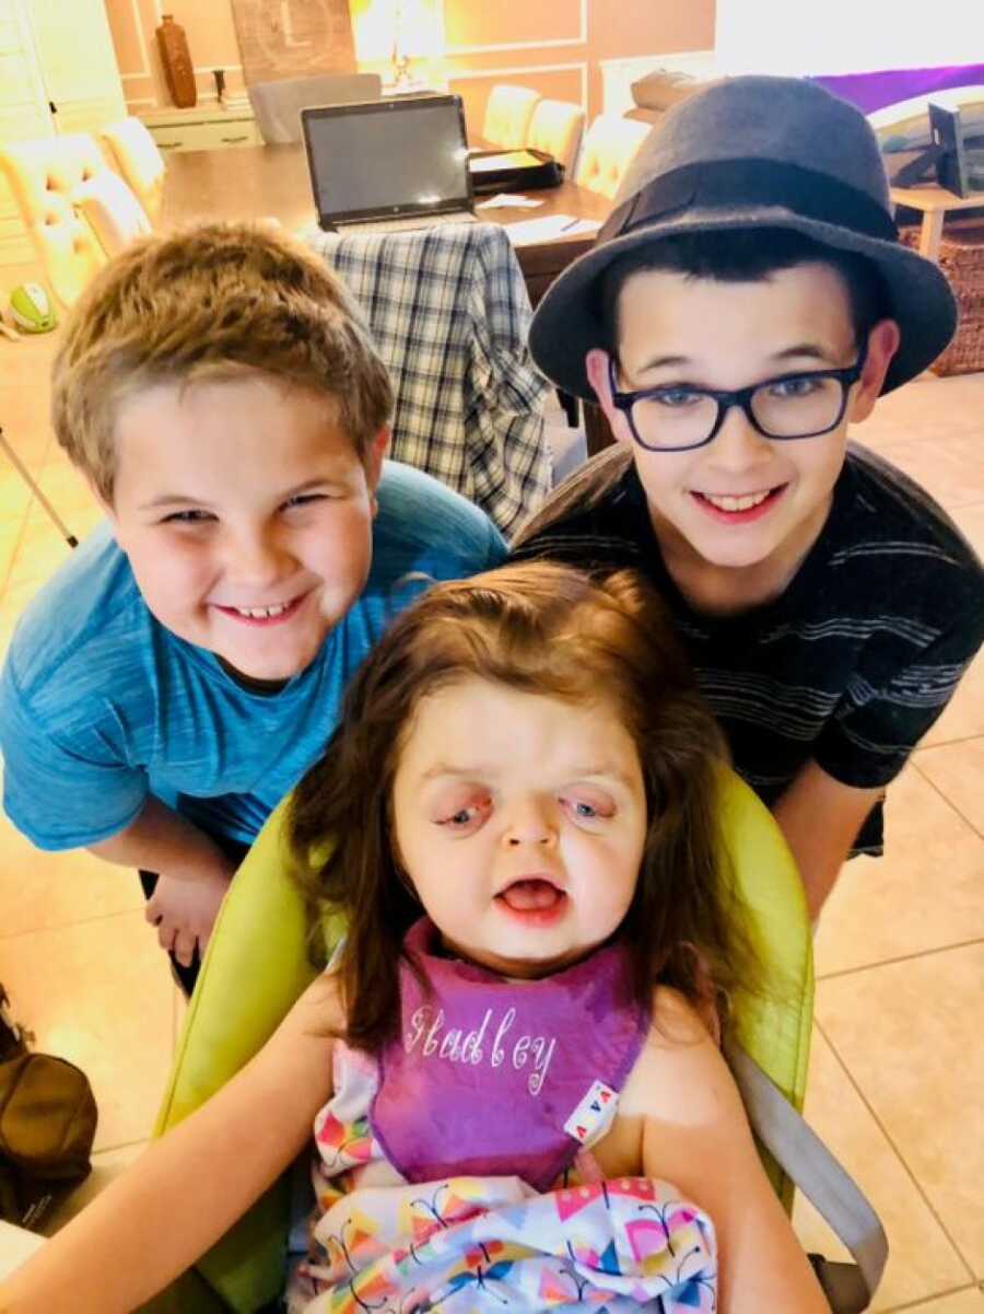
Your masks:
{"label": "smiling face of the boy in grey fedora, excluding his glasses", "polygon": [[[783,590],[813,545],[843,465],[847,424],[867,417],[895,346],[872,330],[864,372],[841,423],[813,438],[772,440],[738,406],[704,447],[652,452],[611,405],[607,356],[587,369],[612,432],[631,447],[666,566],[695,606],[734,610]],[[854,364],[847,292],[821,264],[755,283],[663,269],[633,273],[619,298],[619,386],[737,389],[797,371]]]}

